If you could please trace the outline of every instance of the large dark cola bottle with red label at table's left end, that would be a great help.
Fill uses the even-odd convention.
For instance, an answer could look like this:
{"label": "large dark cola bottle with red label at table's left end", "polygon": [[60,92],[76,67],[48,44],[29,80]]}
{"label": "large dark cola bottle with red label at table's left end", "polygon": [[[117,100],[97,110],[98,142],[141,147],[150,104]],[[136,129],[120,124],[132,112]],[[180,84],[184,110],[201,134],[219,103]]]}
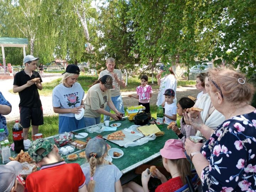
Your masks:
{"label": "large dark cola bottle with red label at table's left end", "polygon": [[14,140],[14,150],[16,153],[20,153],[21,149],[24,150],[24,138],[23,127],[18,120],[15,121],[14,127],[12,128],[12,138]]}

